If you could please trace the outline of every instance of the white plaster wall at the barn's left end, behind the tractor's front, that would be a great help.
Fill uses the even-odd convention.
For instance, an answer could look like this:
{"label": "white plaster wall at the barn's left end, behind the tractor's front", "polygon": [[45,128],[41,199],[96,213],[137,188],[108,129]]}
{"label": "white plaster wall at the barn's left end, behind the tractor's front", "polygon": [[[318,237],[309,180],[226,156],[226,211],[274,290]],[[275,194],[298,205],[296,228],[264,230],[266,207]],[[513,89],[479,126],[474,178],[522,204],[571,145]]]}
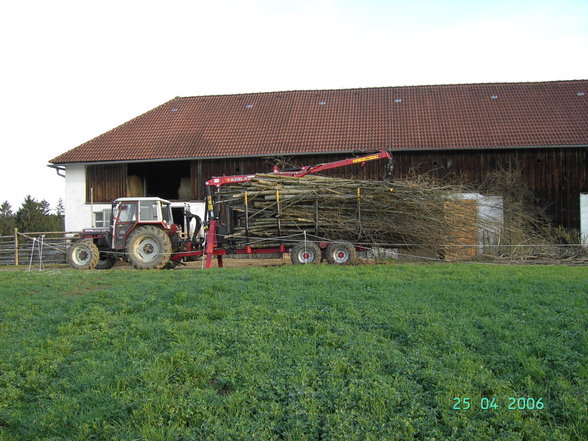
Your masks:
{"label": "white plaster wall at the barn's left end, behind the tractor's front", "polygon": [[[110,208],[95,204],[94,211]],[[92,207],[86,204],[86,166],[65,166],[65,231],[81,231],[92,227]]]}

